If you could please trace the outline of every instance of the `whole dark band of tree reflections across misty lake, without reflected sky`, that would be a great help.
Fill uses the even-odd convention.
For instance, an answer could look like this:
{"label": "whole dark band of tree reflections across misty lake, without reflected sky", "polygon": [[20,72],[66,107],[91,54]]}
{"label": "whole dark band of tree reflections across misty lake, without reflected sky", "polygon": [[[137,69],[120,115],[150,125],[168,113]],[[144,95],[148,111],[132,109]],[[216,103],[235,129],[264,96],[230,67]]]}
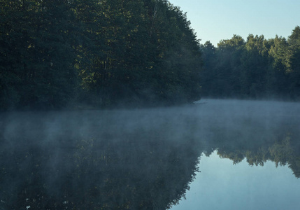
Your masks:
{"label": "whole dark band of tree reflections across misty lake, without reflected sky", "polygon": [[215,150],[299,178],[297,116],[213,105],[2,114],[0,209],[169,209]]}

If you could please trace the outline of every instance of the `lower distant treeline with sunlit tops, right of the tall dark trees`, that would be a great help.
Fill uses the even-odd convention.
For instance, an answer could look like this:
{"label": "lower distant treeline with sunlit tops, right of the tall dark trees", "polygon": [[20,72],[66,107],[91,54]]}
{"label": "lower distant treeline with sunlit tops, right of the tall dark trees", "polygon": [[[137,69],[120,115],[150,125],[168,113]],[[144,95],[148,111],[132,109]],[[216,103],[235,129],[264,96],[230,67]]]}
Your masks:
{"label": "lower distant treeline with sunlit tops, right of the tall dark trees", "polygon": [[300,27],[287,39],[234,35],[201,45],[202,96],[300,99]]}

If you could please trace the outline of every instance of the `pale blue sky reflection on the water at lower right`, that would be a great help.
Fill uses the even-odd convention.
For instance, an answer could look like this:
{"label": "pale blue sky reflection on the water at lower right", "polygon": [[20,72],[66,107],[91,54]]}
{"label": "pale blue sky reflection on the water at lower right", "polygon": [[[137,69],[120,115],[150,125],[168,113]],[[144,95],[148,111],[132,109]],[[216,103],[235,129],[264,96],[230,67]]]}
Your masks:
{"label": "pale blue sky reflection on the water at lower right", "polygon": [[214,152],[203,155],[187,200],[178,209],[299,209],[300,179],[292,170],[267,161],[250,167],[246,160],[233,165]]}

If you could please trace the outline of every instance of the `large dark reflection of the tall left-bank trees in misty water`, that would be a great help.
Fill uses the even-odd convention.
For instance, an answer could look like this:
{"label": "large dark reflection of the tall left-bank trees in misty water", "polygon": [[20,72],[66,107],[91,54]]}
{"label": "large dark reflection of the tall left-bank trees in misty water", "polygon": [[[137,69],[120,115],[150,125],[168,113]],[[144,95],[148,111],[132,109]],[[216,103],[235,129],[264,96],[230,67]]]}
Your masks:
{"label": "large dark reflection of the tall left-bank trees in misty water", "polygon": [[199,163],[193,139],[167,137],[169,125],[70,117],[8,117],[0,209],[168,209],[189,190]]}

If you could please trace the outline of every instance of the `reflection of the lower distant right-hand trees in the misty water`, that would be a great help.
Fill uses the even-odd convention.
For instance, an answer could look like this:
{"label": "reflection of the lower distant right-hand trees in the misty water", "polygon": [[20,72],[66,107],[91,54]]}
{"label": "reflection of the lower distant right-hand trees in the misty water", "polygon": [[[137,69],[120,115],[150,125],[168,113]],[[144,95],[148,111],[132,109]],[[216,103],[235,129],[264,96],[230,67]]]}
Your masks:
{"label": "reflection of the lower distant right-hand trees in the misty water", "polygon": [[287,165],[292,169],[294,176],[299,178],[299,119],[280,118],[280,122],[273,122],[271,126],[264,120],[245,121],[236,124],[235,129],[213,127],[213,137],[210,138],[213,150],[210,151],[217,150],[220,158],[228,158],[234,164],[245,159],[250,166],[264,166],[266,161],[271,160],[275,162],[276,167]]}

